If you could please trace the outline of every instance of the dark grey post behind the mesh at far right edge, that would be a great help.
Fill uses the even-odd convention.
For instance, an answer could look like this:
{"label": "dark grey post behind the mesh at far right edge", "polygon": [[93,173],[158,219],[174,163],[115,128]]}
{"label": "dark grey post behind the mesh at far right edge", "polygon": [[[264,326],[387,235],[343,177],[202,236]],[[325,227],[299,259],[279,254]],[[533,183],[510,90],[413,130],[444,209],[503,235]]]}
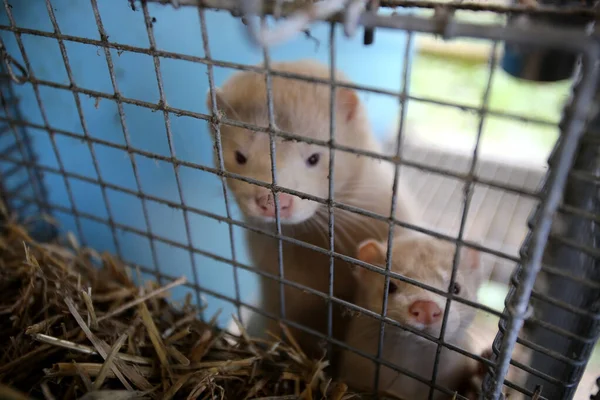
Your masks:
{"label": "dark grey post behind the mesh at far right edge", "polygon": [[[600,88],[596,99],[600,100]],[[546,294],[554,300],[587,310],[589,315],[577,315],[564,307],[532,299],[537,318],[568,330],[581,339],[557,335],[539,326],[534,328],[526,325],[524,330],[532,342],[574,360],[569,365],[541,353],[533,354],[530,364],[533,368],[550,376],[562,377],[564,382],[564,386],[559,387],[530,376],[527,387],[543,385],[542,394],[550,399],[573,397],[577,389],[576,383],[583,374],[600,333],[600,263],[597,256],[600,241],[598,221],[600,135],[598,132],[600,132],[600,115],[596,114],[579,144],[563,197],[565,206],[589,213],[589,217],[579,215],[581,213],[578,215],[563,213],[557,216],[557,221],[560,223],[556,225],[548,241],[544,257],[545,264],[565,270],[570,275],[587,281],[588,284],[549,273],[540,276],[544,280]],[[551,157],[549,160],[551,168],[553,161],[554,157]],[[571,243],[577,243],[578,248],[573,248]]]}

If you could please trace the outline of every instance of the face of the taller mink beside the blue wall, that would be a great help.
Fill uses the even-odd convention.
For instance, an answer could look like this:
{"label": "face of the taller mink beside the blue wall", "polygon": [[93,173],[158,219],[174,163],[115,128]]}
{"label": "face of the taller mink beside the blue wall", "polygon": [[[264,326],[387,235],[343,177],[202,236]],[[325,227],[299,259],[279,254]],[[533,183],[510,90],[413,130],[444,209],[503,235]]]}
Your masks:
{"label": "face of the taller mink beside the blue wall", "polygon": [[[275,63],[274,70],[329,78],[329,68],[312,61]],[[272,102],[275,125],[284,132],[316,139],[326,143],[330,139],[330,99],[328,85],[298,79],[272,77]],[[228,119],[259,127],[269,126],[267,93],[264,75],[254,72],[234,74],[217,89],[217,108]],[[210,94],[207,98],[212,110]],[[365,112],[356,93],[350,89],[336,90],[336,142],[356,148],[365,148],[372,140]],[[213,130],[214,132],[214,130]],[[271,142],[269,134],[237,126],[220,126],[223,161],[229,172],[272,182]],[[336,152],[334,188],[338,190],[356,178],[356,156]],[[277,185],[311,196],[327,199],[329,194],[329,149],[319,144],[284,140],[275,137],[275,167]],[[275,219],[275,202],[271,190],[237,179],[228,179],[228,185],[242,212],[258,222]],[[279,193],[279,216],[283,224],[299,224],[318,213],[323,205],[287,193]]]}

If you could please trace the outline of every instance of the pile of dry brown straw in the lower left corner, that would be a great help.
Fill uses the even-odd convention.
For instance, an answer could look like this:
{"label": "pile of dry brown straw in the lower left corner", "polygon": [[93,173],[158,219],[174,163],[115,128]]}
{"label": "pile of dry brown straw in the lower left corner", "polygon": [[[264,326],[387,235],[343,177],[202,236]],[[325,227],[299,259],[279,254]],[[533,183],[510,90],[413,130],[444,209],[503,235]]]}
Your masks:
{"label": "pile of dry brown straw in the lower left corner", "polygon": [[169,304],[184,278],[139,288],[110,255],[71,236],[37,243],[11,221],[0,236],[0,398],[354,397],[289,335],[289,345],[234,337],[197,319],[189,299]]}

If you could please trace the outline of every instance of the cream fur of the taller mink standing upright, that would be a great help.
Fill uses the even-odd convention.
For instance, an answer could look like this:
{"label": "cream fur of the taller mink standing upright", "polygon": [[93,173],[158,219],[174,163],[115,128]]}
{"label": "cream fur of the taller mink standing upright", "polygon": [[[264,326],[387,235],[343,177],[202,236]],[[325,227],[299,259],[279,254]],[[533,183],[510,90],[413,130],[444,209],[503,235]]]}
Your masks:
{"label": "cream fur of the taller mink standing upright", "polygon": [[[310,60],[274,63],[272,68],[321,78],[329,77],[328,67]],[[336,75],[338,80],[345,79],[340,72]],[[272,88],[275,123],[278,128],[308,138],[329,140],[328,85],[273,76]],[[340,88],[337,90],[336,100],[336,142],[359,149],[381,151],[371,133],[366,112],[356,93]],[[210,97],[207,98],[207,104],[211,109]],[[253,72],[235,73],[219,88],[217,105],[219,111],[227,118],[267,127],[264,75]],[[225,168],[230,172],[270,183],[268,135],[226,125],[221,125],[220,130]],[[245,164],[240,165],[236,162],[236,151],[247,157]],[[320,161],[316,166],[308,167],[306,159],[314,153],[320,154]],[[328,164],[329,151],[325,147],[276,140],[277,183],[280,186],[327,198]],[[388,216],[392,181],[391,164],[336,151],[336,201]],[[254,226],[274,232],[272,219],[261,217],[254,204],[255,196],[268,193],[268,189],[235,179],[228,179],[227,182],[245,220]],[[411,207],[414,207],[414,203],[402,183],[399,193],[396,216],[400,220],[414,223],[411,217]],[[385,222],[341,210],[336,210],[334,215],[336,252],[354,256],[356,246],[361,241],[370,237],[380,240],[387,237],[388,225]],[[327,218],[326,206],[296,197],[292,215],[288,219],[282,219],[283,234],[328,249]],[[253,266],[277,275],[277,240],[250,231],[247,231],[246,236]],[[328,256],[283,242],[283,265],[285,279],[328,293]],[[333,291],[336,297],[352,301],[355,280],[349,267],[349,264],[336,260]],[[268,313],[279,315],[278,282],[261,278],[260,285],[259,307]],[[285,303],[287,319],[327,334],[328,306],[323,298],[286,286]],[[339,307],[334,307],[333,333],[338,339],[344,337],[343,333],[346,330],[346,321],[342,314]],[[266,330],[280,333],[276,321],[253,315],[248,325],[250,334],[264,337]],[[322,346],[318,338],[299,330],[292,330],[292,333],[310,356],[322,355]]]}

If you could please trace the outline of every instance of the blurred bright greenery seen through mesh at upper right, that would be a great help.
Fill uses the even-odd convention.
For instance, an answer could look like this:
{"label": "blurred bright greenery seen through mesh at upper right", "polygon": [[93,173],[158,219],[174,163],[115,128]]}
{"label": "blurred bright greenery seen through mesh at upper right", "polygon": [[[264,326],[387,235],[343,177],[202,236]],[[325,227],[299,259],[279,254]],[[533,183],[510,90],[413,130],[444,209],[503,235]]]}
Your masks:
{"label": "blurred bright greenery seen through mesh at upper right", "polygon": [[[417,53],[411,71],[410,94],[470,107],[481,107],[489,67],[450,57]],[[570,81],[536,83],[516,79],[496,67],[489,109],[558,123],[569,95]],[[429,141],[464,142],[472,148],[479,117],[477,112],[409,102],[408,120]],[[518,145],[534,154],[547,154],[557,128],[514,119],[487,116],[482,146],[498,151]]]}

